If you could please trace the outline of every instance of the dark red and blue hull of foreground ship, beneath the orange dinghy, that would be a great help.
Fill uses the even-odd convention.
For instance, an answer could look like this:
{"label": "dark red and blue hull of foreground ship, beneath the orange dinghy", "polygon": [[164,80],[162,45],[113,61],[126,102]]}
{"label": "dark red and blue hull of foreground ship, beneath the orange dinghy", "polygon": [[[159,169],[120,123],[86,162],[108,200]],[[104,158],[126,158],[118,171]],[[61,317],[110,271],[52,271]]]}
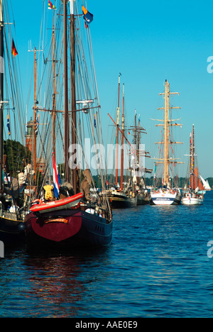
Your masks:
{"label": "dark red and blue hull of foreground ship, beneath the orange dinghy", "polygon": [[[77,195],[75,195],[77,196]],[[101,214],[92,214],[93,209],[77,204],[72,209],[61,207],[57,211],[40,213],[43,205],[31,208],[25,220],[26,241],[29,246],[97,247],[111,244],[112,223]],[[91,213],[92,212],[92,213]]]}

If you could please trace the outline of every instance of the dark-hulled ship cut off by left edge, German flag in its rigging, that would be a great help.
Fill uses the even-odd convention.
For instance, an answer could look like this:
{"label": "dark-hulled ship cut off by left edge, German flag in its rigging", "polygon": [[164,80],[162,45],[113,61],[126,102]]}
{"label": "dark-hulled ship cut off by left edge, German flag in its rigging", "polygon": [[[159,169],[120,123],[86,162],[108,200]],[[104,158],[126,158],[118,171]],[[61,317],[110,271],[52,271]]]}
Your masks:
{"label": "dark-hulled ship cut off by left edge, German flag in its rigging", "polygon": [[[23,146],[21,147],[21,143],[18,143],[17,140],[11,140],[13,126],[10,121],[10,110],[13,110],[14,116],[19,114],[21,118],[21,98],[19,99],[21,82],[15,65],[14,57],[18,55],[18,52],[12,38],[14,26],[8,21],[10,19],[9,10],[9,6],[0,0],[0,241],[5,246],[23,243],[25,238],[24,214],[20,197],[20,192],[25,187],[25,180],[23,179],[21,184],[23,172],[20,172],[20,159],[17,156],[15,167],[12,165],[10,157],[13,147],[18,149]],[[10,78],[7,77],[7,74]],[[18,82],[18,86],[16,82]],[[15,123],[21,129],[22,123],[19,123],[18,118]],[[7,132],[9,139],[4,136],[4,133]],[[18,155],[21,156],[21,150],[18,151]],[[24,157],[24,155],[22,156]],[[19,176],[17,167],[20,167]]]}

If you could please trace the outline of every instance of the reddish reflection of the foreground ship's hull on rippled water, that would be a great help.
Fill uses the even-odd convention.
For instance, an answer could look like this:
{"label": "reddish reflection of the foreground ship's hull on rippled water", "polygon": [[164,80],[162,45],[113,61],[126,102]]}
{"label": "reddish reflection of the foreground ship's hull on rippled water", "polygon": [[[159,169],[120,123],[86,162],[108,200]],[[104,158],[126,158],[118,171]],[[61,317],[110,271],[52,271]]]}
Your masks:
{"label": "reddish reflection of the foreground ship's hull on rippled water", "polygon": [[96,277],[89,275],[89,265],[94,270],[101,257],[102,252],[96,250],[81,250],[72,255],[67,252],[28,253],[25,265],[31,285],[27,296],[35,300],[33,316],[76,317],[83,311],[87,284],[99,279],[97,271]]}

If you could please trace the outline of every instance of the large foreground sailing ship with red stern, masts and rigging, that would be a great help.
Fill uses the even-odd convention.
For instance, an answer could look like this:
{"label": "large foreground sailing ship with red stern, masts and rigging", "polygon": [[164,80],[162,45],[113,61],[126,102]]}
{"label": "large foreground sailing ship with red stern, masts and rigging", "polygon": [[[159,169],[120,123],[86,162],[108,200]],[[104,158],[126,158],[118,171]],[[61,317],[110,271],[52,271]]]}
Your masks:
{"label": "large foreground sailing ship with red stern, masts and rigging", "polygon": [[[50,1],[49,1],[50,2]],[[89,37],[89,45],[91,45],[91,37],[89,31],[89,23],[92,22],[92,13],[82,6],[79,8],[80,1],[70,0],[69,9],[70,16],[68,16],[68,4],[66,0],[62,1],[60,5],[60,15],[58,19],[63,16],[63,79],[64,79],[64,143],[65,148],[65,179],[64,184],[60,186],[58,181],[58,167],[55,162],[57,155],[57,148],[55,148],[55,123],[57,116],[55,89],[56,74],[53,70],[53,109],[51,115],[53,116],[53,182],[54,184],[46,184],[36,197],[33,206],[29,208],[30,213],[26,216],[26,241],[32,248],[40,248],[40,246],[54,247],[54,248],[82,248],[82,247],[100,247],[111,244],[112,240],[112,214],[109,206],[107,195],[102,197],[97,196],[97,199],[91,198],[89,189],[93,187],[96,189],[92,172],[86,162],[87,156],[84,153],[88,152],[83,145],[82,134],[86,129],[82,124],[84,117],[87,117],[89,123],[89,132],[94,143],[99,143],[100,131],[100,105],[98,94],[92,99],[92,92],[88,87],[88,72],[85,72],[87,80],[83,82],[84,86],[78,90],[78,84],[82,83],[84,79],[84,71],[89,67],[85,64],[85,56],[78,53],[84,50],[84,45],[81,43],[82,34],[86,33]],[[53,9],[53,6],[50,7]],[[56,10],[56,9],[55,9]],[[81,12],[81,13],[80,13]],[[70,18],[70,68],[71,68],[71,111],[68,111],[68,90],[69,84],[67,79],[67,23]],[[54,13],[53,13],[54,18]],[[84,18],[84,20],[82,20]],[[53,65],[55,64],[55,28],[53,19]],[[60,29],[58,29],[60,30]],[[60,44],[59,44],[60,45]],[[90,49],[90,58],[92,58],[92,49]],[[79,60],[77,65],[77,60]],[[83,68],[80,66],[83,65]],[[76,70],[78,68],[78,71]],[[80,77],[77,78],[77,72],[80,72]],[[94,75],[94,73],[93,73]],[[58,77],[58,76],[57,76]],[[95,89],[96,79],[94,77]],[[92,90],[94,91],[94,90]],[[77,94],[77,92],[79,94]],[[96,92],[97,93],[97,92]],[[82,95],[80,95],[82,94]],[[89,95],[88,95],[89,94]],[[79,99],[77,99],[77,97]],[[36,99],[35,99],[36,100]],[[92,106],[90,106],[91,104]],[[96,104],[95,104],[96,103]],[[94,105],[95,104],[95,105]],[[97,105],[97,106],[96,106]],[[92,111],[95,111],[94,118]],[[49,111],[46,108],[44,111]],[[57,116],[55,116],[55,114]],[[72,115],[70,121],[70,114]],[[36,118],[36,117],[35,117]],[[93,122],[94,120],[94,122]],[[82,146],[82,157],[84,164],[87,166],[82,170],[82,159],[77,155],[69,156],[68,149],[70,145],[70,127],[72,127],[72,148],[75,148],[79,143]],[[35,128],[35,126],[34,126]],[[35,130],[35,129],[34,129]],[[97,131],[97,132],[96,132]],[[84,143],[85,145],[85,143]],[[89,151],[90,153],[90,151]],[[58,153],[59,155],[59,153]],[[69,158],[70,157],[70,158]],[[71,161],[70,161],[71,160]],[[35,163],[34,163],[35,165]],[[70,172],[70,168],[72,172]],[[47,166],[48,169],[48,166]],[[102,167],[97,167],[99,178],[104,186],[104,175]],[[53,194],[54,189],[54,194]]]}

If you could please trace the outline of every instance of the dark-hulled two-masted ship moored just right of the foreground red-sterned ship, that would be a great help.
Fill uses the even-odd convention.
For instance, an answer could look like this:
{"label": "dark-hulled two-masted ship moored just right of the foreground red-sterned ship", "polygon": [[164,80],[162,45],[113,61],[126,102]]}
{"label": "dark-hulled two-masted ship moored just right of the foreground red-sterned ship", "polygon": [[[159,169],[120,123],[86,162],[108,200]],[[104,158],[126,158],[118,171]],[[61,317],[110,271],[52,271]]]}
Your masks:
{"label": "dark-hulled two-masted ship moored just right of the foreground red-sterned ship", "polygon": [[[115,185],[108,189],[107,196],[109,197],[110,205],[114,209],[125,209],[131,208],[137,205],[135,184],[129,181],[129,183],[124,183],[124,139],[129,143],[124,135],[124,84],[123,84],[123,113],[122,113],[122,123],[121,129],[119,128],[119,112],[120,112],[120,84],[121,75],[119,74],[119,93],[118,93],[118,107],[117,107],[117,118],[116,122],[111,118],[116,126],[116,177]],[[121,133],[121,184],[119,185],[119,133]],[[130,143],[129,143],[130,145]]]}

